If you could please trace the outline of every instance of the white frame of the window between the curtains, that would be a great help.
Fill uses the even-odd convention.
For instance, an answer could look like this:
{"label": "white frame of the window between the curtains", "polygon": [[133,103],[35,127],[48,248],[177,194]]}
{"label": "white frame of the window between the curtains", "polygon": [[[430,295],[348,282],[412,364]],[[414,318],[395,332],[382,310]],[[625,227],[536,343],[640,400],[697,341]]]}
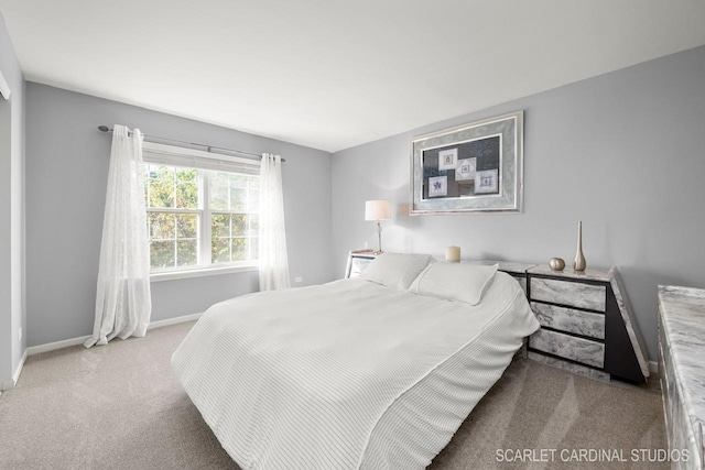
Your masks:
{"label": "white frame of the window between the curtains", "polygon": [[[196,149],[165,145],[154,142],[142,143],[143,161],[148,164],[162,164],[177,167],[193,167],[199,170],[199,207],[197,209],[180,208],[147,208],[147,212],[194,214],[199,216],[198,237],[200,239],[198,259],[210,260],[212,233],[210,216],[210,172],[229,172],[243,174],[259,174],[260,162],[231,155],[204,152]],[[217,210],[216,210],[217,212]],[[237,272],[257,271],[258,260],[235,261],[230,263],[198,264],[195,266],[174,266],[150,272],[152,282],[171,281],[187,277],[210,276]]]}

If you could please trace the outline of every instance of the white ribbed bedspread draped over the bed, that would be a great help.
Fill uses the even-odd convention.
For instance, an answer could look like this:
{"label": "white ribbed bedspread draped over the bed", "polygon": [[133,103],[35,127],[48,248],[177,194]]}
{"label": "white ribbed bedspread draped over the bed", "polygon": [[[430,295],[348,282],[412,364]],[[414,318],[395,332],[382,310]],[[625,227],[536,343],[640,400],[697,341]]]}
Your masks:
{"label": "white ribbed bedspread draped over the bed", "polygon": [[172,364],[243,469],[424,468],[538,327],[505,273],[477,306],[352,278],[216,304]]}

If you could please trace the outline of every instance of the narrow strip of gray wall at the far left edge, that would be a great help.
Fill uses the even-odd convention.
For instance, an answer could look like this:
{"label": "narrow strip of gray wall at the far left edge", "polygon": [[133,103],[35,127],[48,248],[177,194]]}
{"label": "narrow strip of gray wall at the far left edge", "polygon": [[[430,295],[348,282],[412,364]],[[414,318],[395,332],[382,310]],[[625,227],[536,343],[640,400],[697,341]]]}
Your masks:
{"label": "narrow strip of gray wall at the far left edge", "polygon": [[24,78],[0,15],[0,72],[11,89],[0,98],[0,390],[20,367],[24,328]]}

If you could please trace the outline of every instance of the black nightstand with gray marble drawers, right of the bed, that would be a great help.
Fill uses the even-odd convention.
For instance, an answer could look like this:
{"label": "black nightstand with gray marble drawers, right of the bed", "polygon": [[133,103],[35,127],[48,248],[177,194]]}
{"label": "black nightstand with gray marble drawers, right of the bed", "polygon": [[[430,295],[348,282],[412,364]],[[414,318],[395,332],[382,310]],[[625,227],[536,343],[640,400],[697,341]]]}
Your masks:
{"label": "black nightstand with gray marble drawers, right of the bed", "polygon": [[539,265],[527,273],[541,324],[529,338],[530,359],[593,379],[646,382],[646,349],[615,267],[576,273]]}

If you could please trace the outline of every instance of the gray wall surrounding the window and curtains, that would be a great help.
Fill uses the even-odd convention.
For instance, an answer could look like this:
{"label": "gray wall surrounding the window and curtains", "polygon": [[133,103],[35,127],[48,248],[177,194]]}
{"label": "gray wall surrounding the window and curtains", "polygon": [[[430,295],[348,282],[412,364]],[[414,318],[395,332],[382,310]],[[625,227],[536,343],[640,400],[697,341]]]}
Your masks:
{"label": "gray wall surrounding the window and curtains", "polygon": [[[329,153],[34,83],[26,85],[26,106],[29,346],[93,330],[110,155],[110,135],[99,124],[281,154],[292,285],[330,280]],[[294,284],[296,276],[303,283]],[[256,272],[155,282],[152,320],[204,311],[257,289]]]}

